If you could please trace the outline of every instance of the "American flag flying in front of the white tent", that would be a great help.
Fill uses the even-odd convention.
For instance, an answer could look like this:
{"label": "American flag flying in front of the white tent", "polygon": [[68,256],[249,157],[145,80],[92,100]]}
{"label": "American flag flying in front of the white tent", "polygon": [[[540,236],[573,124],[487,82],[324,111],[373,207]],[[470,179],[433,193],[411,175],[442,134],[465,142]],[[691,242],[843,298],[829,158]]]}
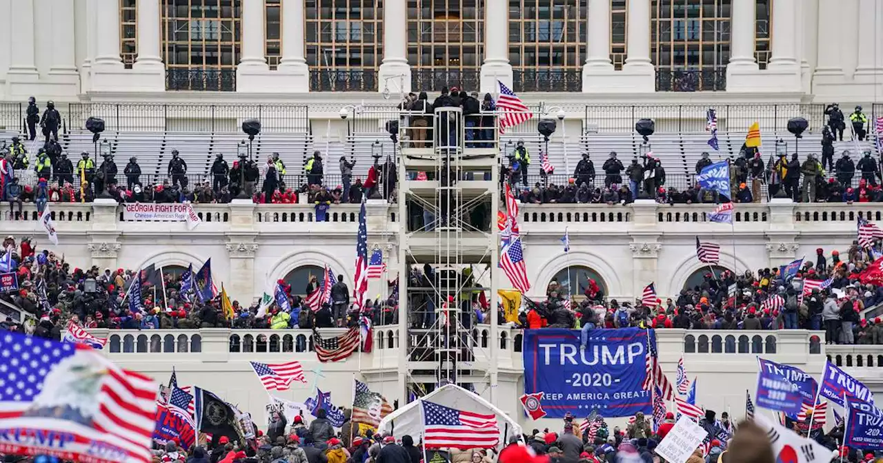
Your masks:
{"label": "American flag flying in front of the white tent", "polygon": [[477,414],[428,400],[423,406],[423,444],[427,449],[489,449],[500,442],[496,414]]}

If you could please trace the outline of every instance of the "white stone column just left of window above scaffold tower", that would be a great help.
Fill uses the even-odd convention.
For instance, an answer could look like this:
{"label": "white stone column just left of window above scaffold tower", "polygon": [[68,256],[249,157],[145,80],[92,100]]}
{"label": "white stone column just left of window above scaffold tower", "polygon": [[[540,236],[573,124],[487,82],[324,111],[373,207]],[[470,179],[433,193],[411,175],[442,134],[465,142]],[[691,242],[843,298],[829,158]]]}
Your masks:
{"label": "white stone column just left of window above scaffold tower", "polygon": [[[383,63],[378,72],[377,91],[411,92],[411,65],[408,64],[408,9],[405,0],[383,2]],[[399,89],[398,87],[403,88]]]}

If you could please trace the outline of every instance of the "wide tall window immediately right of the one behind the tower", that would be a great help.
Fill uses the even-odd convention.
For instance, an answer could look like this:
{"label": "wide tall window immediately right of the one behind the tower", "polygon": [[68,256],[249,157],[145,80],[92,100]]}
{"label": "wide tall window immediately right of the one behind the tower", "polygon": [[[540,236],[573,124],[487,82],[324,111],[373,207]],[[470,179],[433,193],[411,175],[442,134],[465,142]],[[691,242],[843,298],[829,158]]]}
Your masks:
{"label": "wide tall window immediately right of the one behind the tower", "polygon": [[585,2],[509,0],[509,63],[515,90],[582,88],[585,62]]}

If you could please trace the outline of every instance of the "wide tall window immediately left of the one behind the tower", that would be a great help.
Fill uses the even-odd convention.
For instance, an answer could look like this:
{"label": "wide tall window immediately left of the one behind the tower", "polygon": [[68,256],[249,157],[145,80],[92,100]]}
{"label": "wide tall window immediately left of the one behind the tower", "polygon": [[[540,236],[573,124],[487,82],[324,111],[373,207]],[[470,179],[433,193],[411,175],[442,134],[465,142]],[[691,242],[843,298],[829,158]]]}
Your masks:
{"label": "wide tall window immediately left of the one behind the tower", "polygon": [[311,90],[377,90],[382,43],[382,0],[306,0]]}

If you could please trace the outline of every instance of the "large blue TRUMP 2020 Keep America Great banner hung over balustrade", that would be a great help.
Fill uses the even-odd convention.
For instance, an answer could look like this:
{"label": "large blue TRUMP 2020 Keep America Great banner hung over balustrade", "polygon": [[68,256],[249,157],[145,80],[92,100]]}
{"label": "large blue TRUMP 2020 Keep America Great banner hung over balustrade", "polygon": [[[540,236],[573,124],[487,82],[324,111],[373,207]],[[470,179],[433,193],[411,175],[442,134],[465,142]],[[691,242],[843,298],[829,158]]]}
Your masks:
{"label": "large blue TRUMP 2020 Keep America Great banner hung over balustrade", "polygon": [[652,331],[639,328],[595,330],[582,350],[577,330],[526,330],[525,394],[543,392],[547,418],[592,409],[609,418],[650,414],[653,401],[643,388],[648,335],[655,343]]}

